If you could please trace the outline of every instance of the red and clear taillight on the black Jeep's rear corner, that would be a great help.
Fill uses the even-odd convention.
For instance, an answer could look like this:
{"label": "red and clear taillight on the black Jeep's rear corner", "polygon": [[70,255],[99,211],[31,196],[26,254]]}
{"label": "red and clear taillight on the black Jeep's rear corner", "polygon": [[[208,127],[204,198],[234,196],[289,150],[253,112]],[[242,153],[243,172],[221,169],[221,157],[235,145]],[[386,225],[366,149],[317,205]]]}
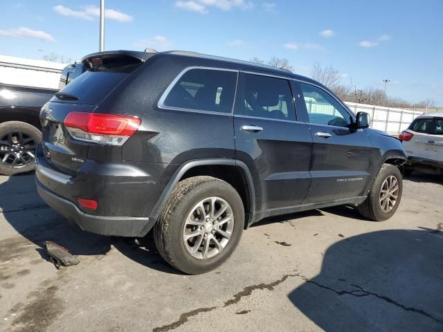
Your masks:
{"label": "red and clear taillight on the black Jeep's rear corner", "polygon": [[107,145],[123,145],[140,127],[141,118],[114,114],[71,112],[64,127],[76,140]]}

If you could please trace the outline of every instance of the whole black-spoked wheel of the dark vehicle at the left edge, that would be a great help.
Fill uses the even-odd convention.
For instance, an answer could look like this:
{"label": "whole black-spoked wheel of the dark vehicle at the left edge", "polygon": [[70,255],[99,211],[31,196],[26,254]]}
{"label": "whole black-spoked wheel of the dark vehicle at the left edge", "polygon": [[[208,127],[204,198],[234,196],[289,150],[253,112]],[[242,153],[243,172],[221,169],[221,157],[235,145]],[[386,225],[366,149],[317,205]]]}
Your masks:
{"label": "whole black-spoked wheel of the dark vehicle at the left edge", "polygon": [[0,174],[30,172],[35,167],[35,148],[42,133],[31,124],[20,121],[0,123]]}

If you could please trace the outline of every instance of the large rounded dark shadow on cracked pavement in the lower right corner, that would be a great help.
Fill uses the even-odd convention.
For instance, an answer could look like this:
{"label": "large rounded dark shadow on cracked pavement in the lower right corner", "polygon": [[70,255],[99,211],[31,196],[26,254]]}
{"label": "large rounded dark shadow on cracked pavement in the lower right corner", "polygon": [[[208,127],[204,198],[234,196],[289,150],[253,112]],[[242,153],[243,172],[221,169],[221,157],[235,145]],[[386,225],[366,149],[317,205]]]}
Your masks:
{"label": "large rounded dark shadow on cracked pavement in the lower right corner", "polygon": [[343,239],[288,297],[325,331],[443,331],[443,232],[383,230]]}

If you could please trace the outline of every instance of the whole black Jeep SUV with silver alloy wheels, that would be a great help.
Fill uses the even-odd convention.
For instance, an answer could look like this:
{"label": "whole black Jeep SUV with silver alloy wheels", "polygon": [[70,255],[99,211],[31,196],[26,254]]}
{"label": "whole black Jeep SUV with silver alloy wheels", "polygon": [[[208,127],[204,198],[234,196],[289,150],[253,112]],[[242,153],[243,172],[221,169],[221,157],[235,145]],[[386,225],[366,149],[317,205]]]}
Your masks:
{"label": "whole black Jeep SUV with silver alloy wheels", "polygon": [[401,199],[397,138],[289,71],[198,53],[110,51],[42,109],[40,196],[83,230],[143,237],[172,266],[219,266],[277,214]]}

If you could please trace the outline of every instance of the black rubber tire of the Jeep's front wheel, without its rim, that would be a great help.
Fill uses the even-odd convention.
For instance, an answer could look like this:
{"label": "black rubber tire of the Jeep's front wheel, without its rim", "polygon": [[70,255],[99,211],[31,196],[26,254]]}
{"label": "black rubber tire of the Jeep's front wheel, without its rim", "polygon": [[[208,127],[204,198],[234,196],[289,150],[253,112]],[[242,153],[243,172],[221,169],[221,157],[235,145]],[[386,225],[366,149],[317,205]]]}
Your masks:
{"label": "black rubber tire of the Jeep's front wheel, without its rim", "polygon": [[[379,203],[381,187],[384,181],[390,176],[395,176],[398,182],[398,196],[395,205],[392,207],[392,210],[389,212],[383,212],[381,209],[381,205]],[[399,169],[390,164],[383,164],[377,174],[374,183],[372,183],[372,187],[369,191],[368,198],[359,205],[359,212],[361,215],[365,216],[368,219],[373,221],[384,221],[389,219],[397,208],[399,207],[401,201],[401,194],[403,192],[403,178],[401,176],[401,172]]]}

